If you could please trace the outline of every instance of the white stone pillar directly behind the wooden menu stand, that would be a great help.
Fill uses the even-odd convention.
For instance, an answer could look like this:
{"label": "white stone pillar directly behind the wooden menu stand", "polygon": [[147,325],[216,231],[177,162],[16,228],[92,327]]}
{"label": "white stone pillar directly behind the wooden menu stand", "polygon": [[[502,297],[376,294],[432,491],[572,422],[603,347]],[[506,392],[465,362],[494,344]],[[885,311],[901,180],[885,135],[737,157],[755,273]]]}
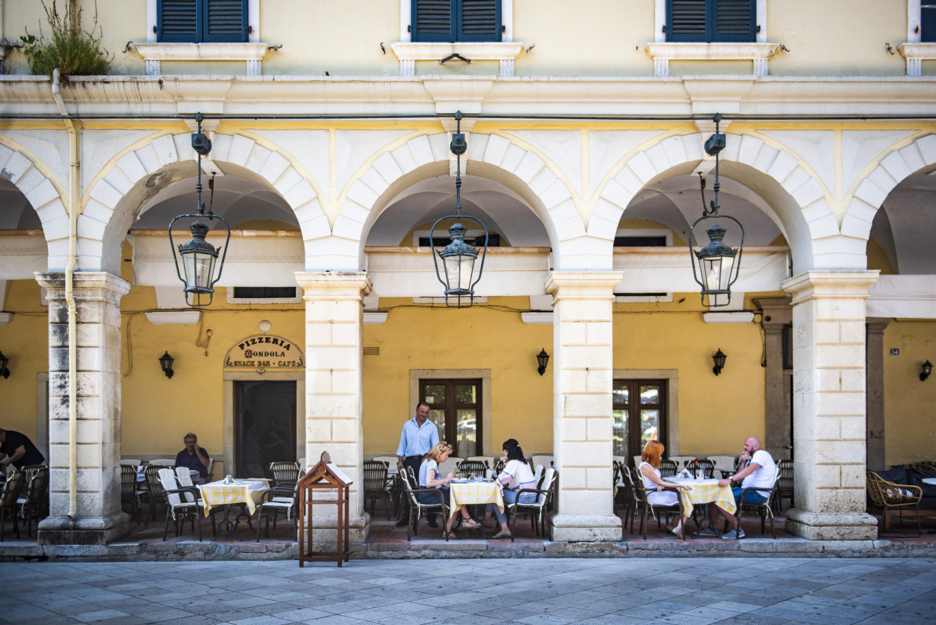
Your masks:
{"label": "white stone pillar directly behind the wooden menu stand", "polygon": [[[363,272],[296,273],[305,300],[305,461],[323,451],[347,473],[351,543],[363,543],[370,516],[363,506],[363,316],[371,280]],[[335,518],[313,527],[334,527]],[[315,539],[316,542],[318,539]]]}

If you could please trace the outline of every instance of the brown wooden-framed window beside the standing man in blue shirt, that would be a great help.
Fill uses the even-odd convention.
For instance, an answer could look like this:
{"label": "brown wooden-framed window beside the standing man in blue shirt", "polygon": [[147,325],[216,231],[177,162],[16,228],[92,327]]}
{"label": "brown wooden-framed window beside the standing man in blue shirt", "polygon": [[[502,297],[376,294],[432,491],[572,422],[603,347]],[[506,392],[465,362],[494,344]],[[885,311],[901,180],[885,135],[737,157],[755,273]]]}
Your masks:
{"label": "brown wooden-framed window beside the standing man in blue shirt", "polygon": [[419,400],[430,405],[429,418],[452,456],[481,456],[481,380],[419,380]]}

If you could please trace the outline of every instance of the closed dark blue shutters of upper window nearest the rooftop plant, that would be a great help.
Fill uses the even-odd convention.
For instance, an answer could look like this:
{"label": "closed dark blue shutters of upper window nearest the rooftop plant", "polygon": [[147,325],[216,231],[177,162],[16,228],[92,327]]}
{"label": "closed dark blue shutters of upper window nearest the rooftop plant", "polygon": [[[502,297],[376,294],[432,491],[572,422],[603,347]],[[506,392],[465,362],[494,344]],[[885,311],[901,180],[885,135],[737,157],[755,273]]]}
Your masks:
{"label": "closed dark blue shutters of upper window nearest the rooftop plant", "polygon": [[159,0],[157,40],[178,43],[246,42],[248,0]]}

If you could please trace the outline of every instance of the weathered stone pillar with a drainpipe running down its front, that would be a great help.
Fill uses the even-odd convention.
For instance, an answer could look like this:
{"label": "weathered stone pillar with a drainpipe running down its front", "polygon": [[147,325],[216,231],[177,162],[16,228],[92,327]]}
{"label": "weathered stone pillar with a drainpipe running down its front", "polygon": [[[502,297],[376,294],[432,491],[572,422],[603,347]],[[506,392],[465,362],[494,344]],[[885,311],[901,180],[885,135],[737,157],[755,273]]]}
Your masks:
{"label": "weathered stone pillar with a drainpipe running down its front", "polygon": [[104,272],[76,272],[78,338],[78,508],[69,517],[68,305],[65,274],[37,282],[49,300],[50,516],[39,523],[44,545],[105,545],[130,533],[121,511],[120,298],[129,283]]}

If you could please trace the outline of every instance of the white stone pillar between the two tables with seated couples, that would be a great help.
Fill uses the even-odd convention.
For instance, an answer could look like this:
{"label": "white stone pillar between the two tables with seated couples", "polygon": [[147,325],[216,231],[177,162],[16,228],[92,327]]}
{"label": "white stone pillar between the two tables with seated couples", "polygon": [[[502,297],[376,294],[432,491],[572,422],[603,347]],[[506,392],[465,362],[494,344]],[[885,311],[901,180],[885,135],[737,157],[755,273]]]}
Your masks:
{"label": "white stone pillar between the two tables with seated couples", "polygon": [[620,272],[556,271],[553,296],[553,417],[557,541],[620,541],[611,458],[611,305]]}

